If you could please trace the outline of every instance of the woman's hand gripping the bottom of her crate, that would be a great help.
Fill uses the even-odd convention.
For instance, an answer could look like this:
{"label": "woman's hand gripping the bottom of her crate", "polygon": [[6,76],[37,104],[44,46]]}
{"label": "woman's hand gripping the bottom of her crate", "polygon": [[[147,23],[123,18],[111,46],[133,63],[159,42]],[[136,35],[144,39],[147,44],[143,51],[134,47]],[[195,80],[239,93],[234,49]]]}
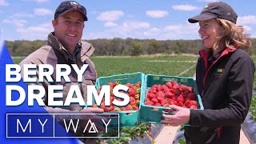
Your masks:
{"label": "woman's hand gripping the bottom of her crate", "polygon": [[176,114],[162,114],[162,116],[165,118],[165,120],[161,121],[162,123],[166,123],[170,126],[180,126],[186,122],[190,122],[190,110],[175,105],[170,105],[170,108],[176,110]]}

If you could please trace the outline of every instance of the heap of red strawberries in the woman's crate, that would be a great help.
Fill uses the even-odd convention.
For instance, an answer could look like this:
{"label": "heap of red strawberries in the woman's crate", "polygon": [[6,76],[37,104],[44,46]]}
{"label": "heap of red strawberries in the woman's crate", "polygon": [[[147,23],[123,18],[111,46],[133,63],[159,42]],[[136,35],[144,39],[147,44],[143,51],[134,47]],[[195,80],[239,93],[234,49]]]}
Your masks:
{"label": "heap of red strawberries in the woman's crate", "polygon": [[178,82],[166,82],[165,85],[153,85],[146,94],[147,106],[182,106],[190,109],[198,109],[191,86],[179,85]]}

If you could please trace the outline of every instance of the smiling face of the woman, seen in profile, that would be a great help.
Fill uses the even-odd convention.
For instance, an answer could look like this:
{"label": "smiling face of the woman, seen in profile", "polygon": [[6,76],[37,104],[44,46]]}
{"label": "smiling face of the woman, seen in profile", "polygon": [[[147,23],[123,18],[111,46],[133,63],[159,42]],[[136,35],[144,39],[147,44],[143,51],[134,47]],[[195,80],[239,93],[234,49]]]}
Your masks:
{"label": "smiling face of the woman, seen in profile", "polygon": [[214,43],[218,42],[218,37],[223,34],[223,26],[215,18],[199,22],[199,26],[198,33],[201,35],[203,46],[214,50]]}

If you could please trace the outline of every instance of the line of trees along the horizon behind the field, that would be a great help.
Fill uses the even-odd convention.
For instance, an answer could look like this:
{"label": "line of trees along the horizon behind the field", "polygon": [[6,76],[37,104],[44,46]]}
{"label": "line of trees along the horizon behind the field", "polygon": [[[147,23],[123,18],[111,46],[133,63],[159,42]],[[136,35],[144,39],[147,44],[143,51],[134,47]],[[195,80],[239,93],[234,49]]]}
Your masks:
{"label": "line of trees along the horizon behind the field", "polygon": [[[162,40],[113,38],[86,40],[95,47],[97,56],[138,56],[142,54],[198,54],[202,40]],[[44,46],[46,41],[6,41],[12,56],[27,56]],[[256,39],[252,39],[250,54],[256,54]]]}

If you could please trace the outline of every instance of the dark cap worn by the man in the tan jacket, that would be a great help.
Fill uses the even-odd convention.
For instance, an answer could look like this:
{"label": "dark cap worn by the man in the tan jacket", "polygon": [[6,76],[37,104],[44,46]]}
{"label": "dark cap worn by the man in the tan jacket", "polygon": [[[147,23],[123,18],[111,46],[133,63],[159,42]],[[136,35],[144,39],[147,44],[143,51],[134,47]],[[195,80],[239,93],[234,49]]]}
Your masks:
{"label": "dark cap worn by the man in the tan jacket", "polygon": [[75,1],[65,1],[59,4],[58,8],[55,10],[54,19],[57,18],[59,15],[66,14],[70,10],[79,11],[83,16],[83,20],[88,20],[86,16],[86,8]]}

